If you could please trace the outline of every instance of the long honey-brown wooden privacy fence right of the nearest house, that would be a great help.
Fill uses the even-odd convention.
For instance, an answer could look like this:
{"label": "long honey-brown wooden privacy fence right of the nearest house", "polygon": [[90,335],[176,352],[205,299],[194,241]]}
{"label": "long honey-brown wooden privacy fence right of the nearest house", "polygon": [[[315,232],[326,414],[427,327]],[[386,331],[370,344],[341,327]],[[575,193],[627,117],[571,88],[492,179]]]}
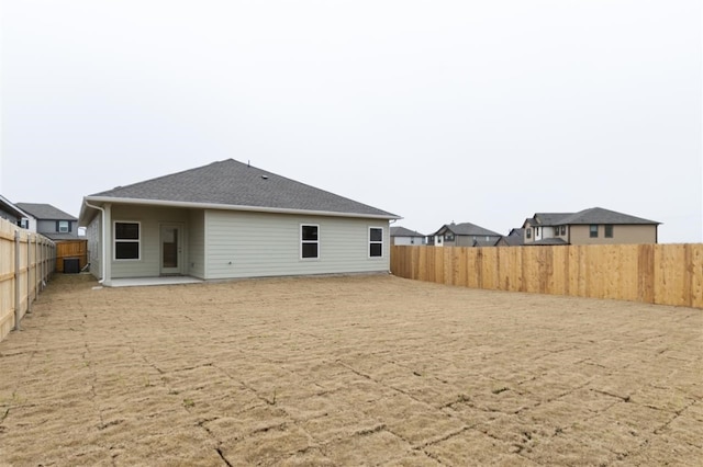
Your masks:
{"label": "long honey-brown wooden privacy fence right of the nearest house", "polygon": [[471,288],[703,308],[703,243],[393,246],[391,272]]}

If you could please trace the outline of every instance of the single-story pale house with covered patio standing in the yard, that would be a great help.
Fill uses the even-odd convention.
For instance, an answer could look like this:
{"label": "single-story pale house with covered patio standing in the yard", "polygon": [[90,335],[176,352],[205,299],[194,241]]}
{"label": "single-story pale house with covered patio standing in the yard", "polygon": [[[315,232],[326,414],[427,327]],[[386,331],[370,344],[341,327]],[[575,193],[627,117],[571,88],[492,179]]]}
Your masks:
{"label": "single-story pale house with covered patio standing in the yard", "polygon": [[83,198],[90,271],[201,280],[390,270],[400,217],[233,159]]}

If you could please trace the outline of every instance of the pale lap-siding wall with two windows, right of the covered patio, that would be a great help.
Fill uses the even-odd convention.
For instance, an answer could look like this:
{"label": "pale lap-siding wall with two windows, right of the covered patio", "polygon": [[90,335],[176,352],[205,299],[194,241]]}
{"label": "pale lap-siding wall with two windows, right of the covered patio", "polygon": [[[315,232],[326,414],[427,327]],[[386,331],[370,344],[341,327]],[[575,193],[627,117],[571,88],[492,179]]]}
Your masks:
{"label": "pale lap-siding wall with two windows, right of the covered patio", "polygon": [[[320,227],[317,259],[301,259],[300,225]],[[383,257],[369,258],[369,227],[383,228]],[[205,212],[205,278],[390,271],[390,225],[356,219]]]}

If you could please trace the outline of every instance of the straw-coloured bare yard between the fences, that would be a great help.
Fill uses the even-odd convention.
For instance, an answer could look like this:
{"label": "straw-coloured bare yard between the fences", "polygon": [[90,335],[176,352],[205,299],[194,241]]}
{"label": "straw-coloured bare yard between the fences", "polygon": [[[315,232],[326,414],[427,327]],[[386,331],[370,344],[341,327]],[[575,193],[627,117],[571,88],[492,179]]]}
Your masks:
{"label": "straw-coloured bare yard between the fences", "polygon": [[101,288],[0,343],[0,465],[701,465],[703,311],[393,276]]}

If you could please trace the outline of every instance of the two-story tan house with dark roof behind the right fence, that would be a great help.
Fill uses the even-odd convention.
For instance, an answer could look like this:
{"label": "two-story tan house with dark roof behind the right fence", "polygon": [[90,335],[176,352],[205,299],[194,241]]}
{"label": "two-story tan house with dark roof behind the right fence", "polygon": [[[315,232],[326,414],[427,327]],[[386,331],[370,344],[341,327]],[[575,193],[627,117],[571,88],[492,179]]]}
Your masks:
{"label": "two-story tan house with dark roof behind the right fence", "polygon": [[578,213],[535,213],[523,224],[524,242],[526,246],[657,243],[659,224],[602,207]]}

